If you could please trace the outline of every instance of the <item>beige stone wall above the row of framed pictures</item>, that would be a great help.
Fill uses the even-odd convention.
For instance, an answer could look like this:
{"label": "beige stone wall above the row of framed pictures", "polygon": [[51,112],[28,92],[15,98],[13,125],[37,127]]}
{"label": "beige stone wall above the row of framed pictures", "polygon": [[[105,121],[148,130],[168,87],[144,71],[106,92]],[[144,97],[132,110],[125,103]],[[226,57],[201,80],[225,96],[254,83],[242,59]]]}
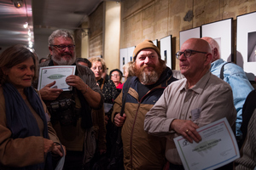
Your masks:
{"label": "beige stone wall above the row of framed pictures", "polygon": [[[194,17],[184,21],[185,14],[192,10]],[[255,0],[125,0],[121,3],[120,48],[129,48],[144,39],[159,39],[172,35],[172,56],[179,50],[179,31],[203,24],[256,11]],[[236,37],[236,24],[234,35]],[[236,42],[236,38],[233,38]],[[233,44],[236,45],[236,43]]]}

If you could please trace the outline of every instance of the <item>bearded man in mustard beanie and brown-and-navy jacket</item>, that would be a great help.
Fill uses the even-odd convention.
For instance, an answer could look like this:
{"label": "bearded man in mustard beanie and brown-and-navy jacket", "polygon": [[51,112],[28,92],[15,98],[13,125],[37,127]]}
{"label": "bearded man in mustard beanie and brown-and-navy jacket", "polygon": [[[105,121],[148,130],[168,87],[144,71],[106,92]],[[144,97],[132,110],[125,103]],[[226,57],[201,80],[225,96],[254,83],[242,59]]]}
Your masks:
{"label": "bearded man in mustard beanie and brown-and-navy jacket", "polygon": [[162,169],[166,163],[166,139],[146,133],[144,119],[166,86],[177,79],[172,77],[171,69],[160,58],[160,49],[150,40],[137,45],[133,59],[136,77],[130,77],[125,113],[123,116],[119,114],[122,92],[115,99],[112,121],[117,127],[122,127],[125,169]]}

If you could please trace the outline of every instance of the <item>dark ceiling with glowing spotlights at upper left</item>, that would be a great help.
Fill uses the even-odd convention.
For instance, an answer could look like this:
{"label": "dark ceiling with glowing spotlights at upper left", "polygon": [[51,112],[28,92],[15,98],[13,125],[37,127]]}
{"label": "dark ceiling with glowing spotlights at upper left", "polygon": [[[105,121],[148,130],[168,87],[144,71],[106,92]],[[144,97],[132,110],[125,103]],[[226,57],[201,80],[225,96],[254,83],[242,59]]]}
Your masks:
{"label": "dark ceiling with glowing spotlights at upper left", "polygon": [[[23,0],[23,7],[15,8],[11,0],[0,0],[0,47],[17,43],[28,45],[28,29],[32,31],[32,42],[38,34],[49,35],[56,29],[78,29],[102,1]],[[28,28],[23,27],[26,22]]]}

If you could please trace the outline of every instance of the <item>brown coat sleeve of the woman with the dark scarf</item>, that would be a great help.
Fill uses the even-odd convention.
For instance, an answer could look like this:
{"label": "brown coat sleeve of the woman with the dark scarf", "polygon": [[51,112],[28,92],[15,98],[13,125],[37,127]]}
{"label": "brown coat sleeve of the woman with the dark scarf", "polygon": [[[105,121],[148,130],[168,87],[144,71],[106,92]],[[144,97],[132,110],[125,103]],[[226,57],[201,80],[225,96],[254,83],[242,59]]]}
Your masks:
{"label": "brown coat sleeve of the woman with the dark scarf", "polygon": [[44,162],[43,137],[30,136],[12,139],[6,125],[5,102],[0,102],[0,164],[9,167],[26,167]]}

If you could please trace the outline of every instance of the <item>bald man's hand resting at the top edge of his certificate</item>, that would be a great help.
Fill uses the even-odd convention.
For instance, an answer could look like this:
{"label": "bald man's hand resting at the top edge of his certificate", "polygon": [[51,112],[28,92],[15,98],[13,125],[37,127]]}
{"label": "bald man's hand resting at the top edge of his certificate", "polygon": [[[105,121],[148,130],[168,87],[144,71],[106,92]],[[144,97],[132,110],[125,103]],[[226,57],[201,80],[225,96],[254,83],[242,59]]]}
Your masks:
{"label": "bald man's hand resting at the top edge of his certificate", "polygon": [[195,140],[196,143],[201,141],[201,136],[196,131],[196,128],[199,127],[195,122],[175,119],[172,121],[170,128],[183,135],[184,139],[188,140],[190,143],[192,143],[193,140]]}

